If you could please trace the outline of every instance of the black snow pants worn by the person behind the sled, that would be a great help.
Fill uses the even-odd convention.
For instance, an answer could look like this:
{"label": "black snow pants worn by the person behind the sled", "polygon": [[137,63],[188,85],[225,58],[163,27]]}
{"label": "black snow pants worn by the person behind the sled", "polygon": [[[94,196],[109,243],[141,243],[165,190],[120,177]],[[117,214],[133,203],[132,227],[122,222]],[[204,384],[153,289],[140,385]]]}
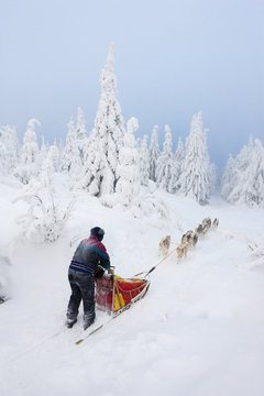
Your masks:
{"label": "black snow pants worn by the person behind the sled", "polygon": [[96,318],[95,311],[95,278],[91,273],[82,273],[69,268],[68,280],[72,288],[72,296],[68,302],[67,318],[77,319],[79,305],[84,304],[84,322],[90,323]]}

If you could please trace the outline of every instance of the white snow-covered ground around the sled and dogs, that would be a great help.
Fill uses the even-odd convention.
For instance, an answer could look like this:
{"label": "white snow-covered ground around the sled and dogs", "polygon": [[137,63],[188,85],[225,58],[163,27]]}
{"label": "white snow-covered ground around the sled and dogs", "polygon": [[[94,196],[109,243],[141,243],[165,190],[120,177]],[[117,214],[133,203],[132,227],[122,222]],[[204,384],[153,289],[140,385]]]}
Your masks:
{"label": "white snow-covered ground around the sled and dogs", "polygon": [[[160,193],[168,219],[139,220],[82,194],[62,238],[36,245],[19,238],[25,204],[12,204],[18,194],[16,185],[0,184],[0,248],[10,261],[0,263],[10,297],[0,305],[1,396],[264,394],[263,209],[218,197],[201,207]],[[130,277],[160,262],[162,237],[172,235],[173,250],[207,216],[219,218],[217,231],[179,263],[172,254],[152,272],[144,299],[75,344],[82,319],[65,329],[67,270],[91,227],[105,229],[116,273]],[[97,323],[103,320],[98,312]]]}

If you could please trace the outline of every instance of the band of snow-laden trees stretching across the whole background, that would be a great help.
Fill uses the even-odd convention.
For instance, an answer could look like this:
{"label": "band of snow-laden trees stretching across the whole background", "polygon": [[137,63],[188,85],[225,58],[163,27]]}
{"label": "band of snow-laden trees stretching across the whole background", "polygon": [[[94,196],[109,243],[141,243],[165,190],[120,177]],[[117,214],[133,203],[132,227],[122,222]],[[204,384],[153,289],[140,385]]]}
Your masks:
{"label": "band of snow-laden trees stretching across the whole background", "polygon": [[[31,119],[20,144],[15,128],[0,127],[0,174],[13,175],[25,187],[21,195],[30,209],[22,220],[26,232],[38,232],[44,240],[54,241],[65,223],[73,205],[59,211],[54,190],[54,174],[68,176],[72,191],[85,190],[106,206],[117,205],[140,212],[166,215],[166,208],[155,197],[155,189],[208,202],[216,187],[216,166],[210,162],[207,130],[201,112],[194,114],[185,143],[178,138],[173,151],[173,134],[165,125],[163,147],[158,144],[158,127],[147,135],[135,139],[139,122],[131,118],[127,125],[117,99],[117,78],[113,70],[113,45],[100,76],[101,96],[95,127],[87,133],[86,120],[77,109],[76,123],[70,118],[66,142],[38,146]],[[175,139],[174,139],[175,140]],[[264,155],[260,141],[250,141],[235,160],[230,157],[222,178],[222,196],[230,202],[263,207]],[[21,198],[20,197],[20,198]],[[30,220],[29,220],[30,219]]]}

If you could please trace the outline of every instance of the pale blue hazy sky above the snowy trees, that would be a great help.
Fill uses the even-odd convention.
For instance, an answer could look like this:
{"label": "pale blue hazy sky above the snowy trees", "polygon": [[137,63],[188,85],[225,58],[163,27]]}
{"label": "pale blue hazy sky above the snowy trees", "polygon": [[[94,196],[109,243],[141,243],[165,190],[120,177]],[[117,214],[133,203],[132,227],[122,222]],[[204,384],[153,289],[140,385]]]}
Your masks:
{"label": "pale blue hazy sky above the snowy trees", "polygon": [[202,111],[221,168],[249,135],[264,143],[263,0],[0,0],[0,124],[22,139],[30,118],[50,143],[81,107],[88,131],[114,42],[118,99],[138,135]]}

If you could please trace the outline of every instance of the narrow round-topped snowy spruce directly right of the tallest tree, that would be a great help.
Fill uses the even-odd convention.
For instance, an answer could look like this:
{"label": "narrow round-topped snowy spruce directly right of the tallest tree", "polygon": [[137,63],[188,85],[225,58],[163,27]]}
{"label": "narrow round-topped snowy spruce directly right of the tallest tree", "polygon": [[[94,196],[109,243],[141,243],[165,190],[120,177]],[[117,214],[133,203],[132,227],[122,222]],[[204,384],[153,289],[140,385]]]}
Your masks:
{"label": "narrow round-topped snowy spruce directly right of the tallest tree", "polygon": [[134,132],[139,129],[135,118],[128,121],[123,146],[120,150],[120,165],[118,166],[119,180],[117,193],[119,202],[130,208],[140,191],[139,152],[135,148]]}

